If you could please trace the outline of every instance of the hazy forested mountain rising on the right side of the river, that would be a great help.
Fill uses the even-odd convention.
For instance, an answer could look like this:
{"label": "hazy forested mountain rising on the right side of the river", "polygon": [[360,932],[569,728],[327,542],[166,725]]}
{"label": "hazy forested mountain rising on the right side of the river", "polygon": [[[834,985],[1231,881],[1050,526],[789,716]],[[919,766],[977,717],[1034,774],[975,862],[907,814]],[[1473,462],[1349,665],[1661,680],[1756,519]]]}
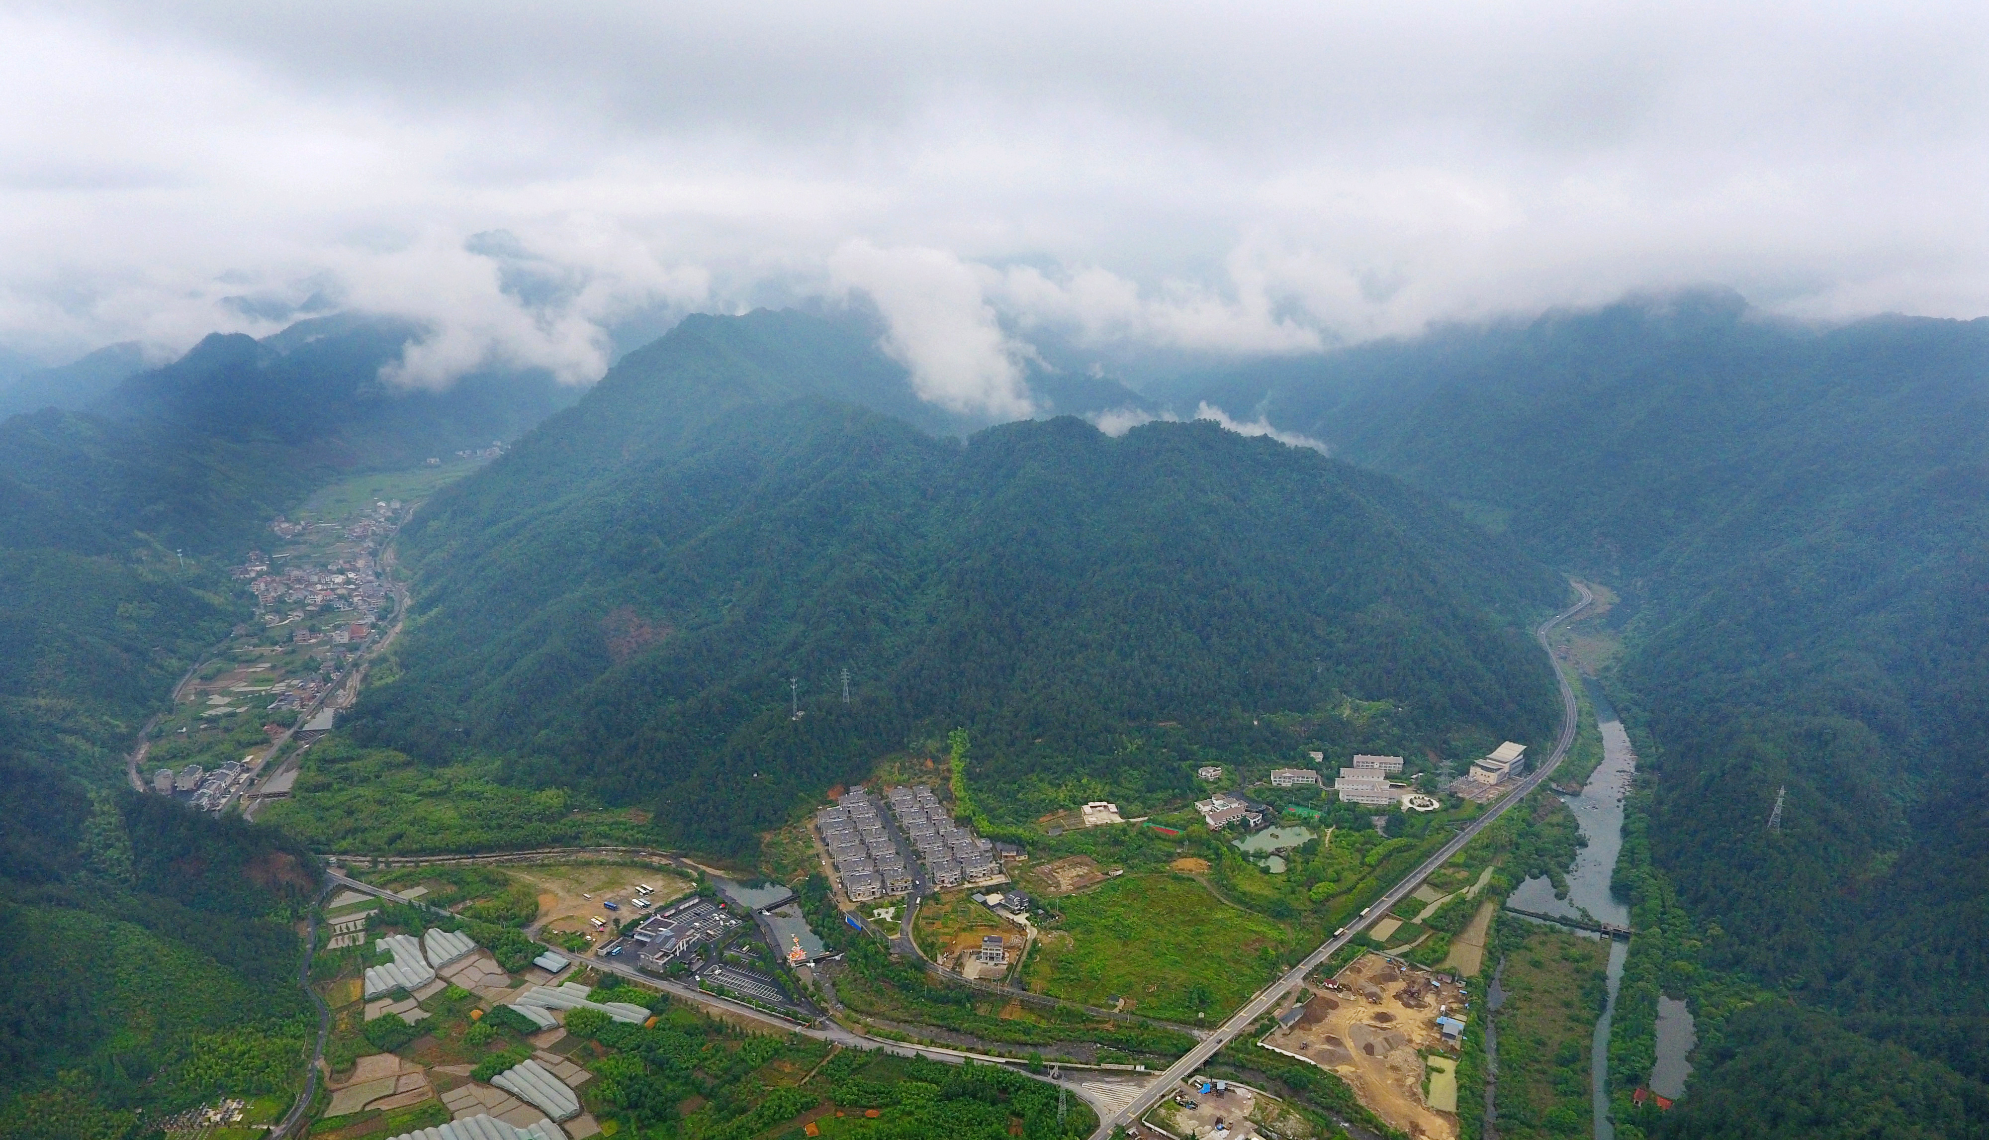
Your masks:
{"label": "hazy forested mountain rising on the right side of the river", "polygon": [[1989,1078],[1989,320],[1685,294],[1203,384],[1621,587],[1697,967]]}

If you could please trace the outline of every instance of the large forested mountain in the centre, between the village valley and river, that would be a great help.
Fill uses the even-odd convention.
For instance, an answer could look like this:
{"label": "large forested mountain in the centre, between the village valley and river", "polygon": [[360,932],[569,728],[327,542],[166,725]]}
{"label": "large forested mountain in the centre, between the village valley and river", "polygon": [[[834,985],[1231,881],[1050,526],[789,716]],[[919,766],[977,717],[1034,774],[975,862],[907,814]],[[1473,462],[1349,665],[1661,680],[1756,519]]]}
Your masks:
{"label": "large forested mountain in the centre, between the village valley and river", "polygon": [[1504,539],[1213,424],[935,438],[851,406],[899,392],[877,360],[796,312],[631,354],[402,533],[416,619],[352,732],[724,852],[953,726],[1010,818],[1177,796],[1193,756],[1551,732],[1520,631],[1565,585]]}

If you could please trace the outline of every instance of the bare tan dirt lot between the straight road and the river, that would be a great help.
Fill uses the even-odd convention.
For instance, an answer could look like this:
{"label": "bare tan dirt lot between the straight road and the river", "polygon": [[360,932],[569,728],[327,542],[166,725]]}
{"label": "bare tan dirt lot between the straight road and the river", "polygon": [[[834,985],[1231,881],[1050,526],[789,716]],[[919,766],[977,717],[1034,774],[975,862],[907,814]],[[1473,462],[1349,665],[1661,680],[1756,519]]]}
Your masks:
{"label": "bare tan dirt lot between the straight road and the river", "polygon": [[1360,1104],[1402,1132],[1454,1140],[1456,1114],[1424,1100],[1422,1052],[1450,1052],[1436,1019],[1458,1009],[1462,993],[1380,955],[1355,959],[1335,981],[1343,989],[1315,991],[1305,1017],[1265,1045],[1339,1074]]}

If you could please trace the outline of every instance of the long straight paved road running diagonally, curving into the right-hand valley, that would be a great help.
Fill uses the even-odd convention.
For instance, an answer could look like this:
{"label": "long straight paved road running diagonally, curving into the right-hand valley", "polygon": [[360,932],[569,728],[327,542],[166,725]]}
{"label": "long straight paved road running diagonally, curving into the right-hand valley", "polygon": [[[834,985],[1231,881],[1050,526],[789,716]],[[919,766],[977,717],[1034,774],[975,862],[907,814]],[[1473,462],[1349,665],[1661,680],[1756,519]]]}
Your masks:
{"label": "long straight paved road running diagonally, curving into the right-hand valley", "polygon": [[[1539,623],[1539,629],[1534,631],[1534,639],[1539,641],[1539,647],[1547,651],[1549,663],[1553,661],[1553,649],[1547,645],[1547,633],[1553,631],[1555,625],[1561,625],[1563,621],[1575,617],[1577,613],[1587,609],[1589,603],[1595,601],[1595,595],[1589,593],[1587,587],[1575,585],[1575,589],[1581,591],[1581,601]],[[1110,1140],[1114,1128],[1144,1116],[1150,1108],[1154,1108],[1154,1104],[1160,1102],[1162,1096],[1168,1094],[1170,1088],[1174,1088],[1177,1080],[1191,1076],[1211,1056],[1221,1052],[1223,1046],[1227,1046],[1237,1037],[1249,1033],[1251,1027],[1257,1025],[1257,1019],[1277,1009],[1277,1005],[1285,999],[1285,995],[1305,981],[1305,975],[1319,969],[1329,957],[1339,953],[1341,947],[1356,939],[1360,931],[1364,931],[1368,925],[1380,921],[1390,909],[1394,909],[1396,903],[1406,899],[1416,887],[1422,885],[1424,879],[1428,879],[1438,867],[1448,863],[1450,857],[1462,852],[1464,846],[1470,844],[1480,832],[1492,826],[1494,820],[1504,816],[1508,808],[1524,800],[1534,788],[1539,786],[1541,780],[1553,774],[1553,770],[1561,764],[1561,758],[1567,756],[1567,748],[1575,742],[1575,724],[1577,724],[1575,690],[1567,684],[1567,676],[1561,672],[1559,663],[1553,663],[1553,678],[1561,686],[1561,736],[1559,740],[1553,742],[1553,752],[1547,756],[1547,760],[1539,764],[1539,768],[1532,776],[1520,780],[1518,788],[1514,788],[1502,800],[1492,804],[1492,808],[1488,808],[1486,814],[1472,820],[1470,828],[1458,832],[1458,836],[1448,844],[1444,844],[1440,852],[1430,855],[1428,861],[1410,871],[1408,877],[1404,877],[1396,885],[1388,887],[1388,891],[1382,897],[1374,899],[1374,905],[1370,905],[1358,919],[1343,927],[1341,933],[1327,939],[1319,949],[1311,953],[1311,957],[1293,967],[1291,973],[1267,985],[1265,989],[1257,991],[1257,995],[1251,997],[1243,1005],[1243,1009],[1239,1009],[1229,1021],[1221,1025],[1221,1029],[1217,1029],[1199,1045],[1189,1048],[1187,1054],[1183,1054],[1164,1074],[1160,1074],[1160,1078],[1154,1084],[1150,1084],[1146,1092],[1142,1092],[1132,1104],[1110,1116],[1100,1114],[1098,1132],[1092,1134],[1092,1140]]]}

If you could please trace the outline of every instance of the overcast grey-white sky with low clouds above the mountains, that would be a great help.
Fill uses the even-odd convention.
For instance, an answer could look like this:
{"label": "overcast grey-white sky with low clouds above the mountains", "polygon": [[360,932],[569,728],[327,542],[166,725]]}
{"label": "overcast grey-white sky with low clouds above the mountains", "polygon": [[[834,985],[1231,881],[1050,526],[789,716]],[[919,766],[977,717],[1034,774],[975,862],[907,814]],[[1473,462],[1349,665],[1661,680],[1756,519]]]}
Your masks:
{"label": "overcast grey-white sky with low clouds above the mountains", "polygon": [[[0,344],[428,318],[398,376],[863,294],[927,394],[1018,338],[1301,352],[1730,285],[1989,312],[1989,4],[0,8]],[[308,302],[308,304],[306,304]]]}

